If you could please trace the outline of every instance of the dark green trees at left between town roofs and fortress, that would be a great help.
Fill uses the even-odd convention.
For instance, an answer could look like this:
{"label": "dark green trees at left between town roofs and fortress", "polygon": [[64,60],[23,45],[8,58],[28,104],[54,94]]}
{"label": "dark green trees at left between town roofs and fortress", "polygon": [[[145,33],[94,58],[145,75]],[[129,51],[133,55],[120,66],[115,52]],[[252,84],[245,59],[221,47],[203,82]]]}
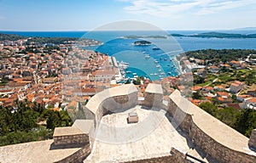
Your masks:
{"label": "dark green trees at left between town roofs and fortress", "polygon": [[[52,138],[56,126],[71,126],[67,111],[44,109],[41,104],[16,101],[17,110],[0,106],[0,146]],[[38,122],[46,121],[46,126]]]}

